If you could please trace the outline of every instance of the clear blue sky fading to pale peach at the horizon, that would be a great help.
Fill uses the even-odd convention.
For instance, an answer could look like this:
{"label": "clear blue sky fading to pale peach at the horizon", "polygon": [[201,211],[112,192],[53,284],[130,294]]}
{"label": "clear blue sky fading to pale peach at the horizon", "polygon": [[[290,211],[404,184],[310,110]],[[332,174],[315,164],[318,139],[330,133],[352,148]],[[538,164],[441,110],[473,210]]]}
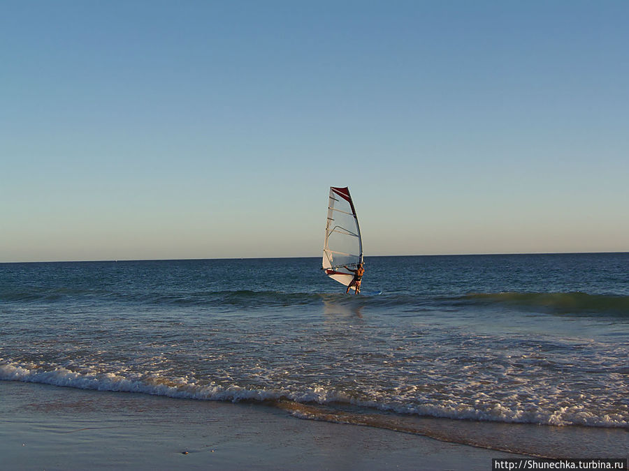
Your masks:
{"label": "clear blue sky fading to pale peach at the horizon", "polygon": [[629,251],[627,1],[0,2],[0,262]]}

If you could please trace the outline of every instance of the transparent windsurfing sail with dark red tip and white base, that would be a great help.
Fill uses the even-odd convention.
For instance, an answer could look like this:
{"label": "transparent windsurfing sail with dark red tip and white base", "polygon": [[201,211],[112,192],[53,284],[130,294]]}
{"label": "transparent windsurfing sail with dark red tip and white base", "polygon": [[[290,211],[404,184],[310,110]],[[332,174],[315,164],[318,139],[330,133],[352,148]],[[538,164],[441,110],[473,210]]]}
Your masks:
{"label": "transparent windsurfing sail with dark red tip and white base", "polygon": [[349,189],[331,186],[322,269],[327,276],[347,286],[354,274],[345,267],[356,269],[361,262],[361,228]]}

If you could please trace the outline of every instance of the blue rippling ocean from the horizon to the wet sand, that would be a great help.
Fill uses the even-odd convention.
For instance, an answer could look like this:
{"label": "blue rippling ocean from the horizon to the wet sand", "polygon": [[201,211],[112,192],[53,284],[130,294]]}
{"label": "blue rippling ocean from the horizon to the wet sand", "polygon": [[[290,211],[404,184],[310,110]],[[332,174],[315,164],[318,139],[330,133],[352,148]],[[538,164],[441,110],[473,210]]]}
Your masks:
{"label": "blue rippling ocean from the horizon to the wet sand", "polygon": [[320,267],[0,264],[0,380],[626,456],[629,253],[366,257],[359,296]]}

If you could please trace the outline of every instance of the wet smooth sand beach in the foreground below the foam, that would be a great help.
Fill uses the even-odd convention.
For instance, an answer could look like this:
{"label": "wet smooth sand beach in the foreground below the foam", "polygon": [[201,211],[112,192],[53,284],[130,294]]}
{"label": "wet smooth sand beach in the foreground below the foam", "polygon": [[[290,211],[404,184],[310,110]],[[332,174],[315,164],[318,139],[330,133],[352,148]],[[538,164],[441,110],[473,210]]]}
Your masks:
{"label": "wet smooth sand beach in the foreground below the foam", "polygon": [[519,457],[254,404],[0,381],[7,470],[488,470]]}

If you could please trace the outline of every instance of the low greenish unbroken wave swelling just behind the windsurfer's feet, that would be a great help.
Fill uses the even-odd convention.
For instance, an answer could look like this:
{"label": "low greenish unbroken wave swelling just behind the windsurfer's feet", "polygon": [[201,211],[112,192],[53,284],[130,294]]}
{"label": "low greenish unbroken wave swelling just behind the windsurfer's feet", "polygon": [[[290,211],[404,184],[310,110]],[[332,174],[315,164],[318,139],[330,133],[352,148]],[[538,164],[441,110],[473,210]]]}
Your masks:
{"label": "low greenish unbroken wave swelling just behind the windsurfer's feet", "polygon": [[[382,295],[376,295],[382,294]],[[117,301],[152,306],[203,308],[269,308],[317,306],[328,301],[350,306],[405,308],[406,311],[451,311],[470,306],[506,306],[519,311],[629,317],[629,296],[585,292],[472,292],[464,295],[424,295],[365,292],[359,297],[341,292],[285,292],[273,290],[206,290],[188,292],[132,292],[104,289],[20,287],[1,288],[0,301],[55,304],[64,301]]]}

